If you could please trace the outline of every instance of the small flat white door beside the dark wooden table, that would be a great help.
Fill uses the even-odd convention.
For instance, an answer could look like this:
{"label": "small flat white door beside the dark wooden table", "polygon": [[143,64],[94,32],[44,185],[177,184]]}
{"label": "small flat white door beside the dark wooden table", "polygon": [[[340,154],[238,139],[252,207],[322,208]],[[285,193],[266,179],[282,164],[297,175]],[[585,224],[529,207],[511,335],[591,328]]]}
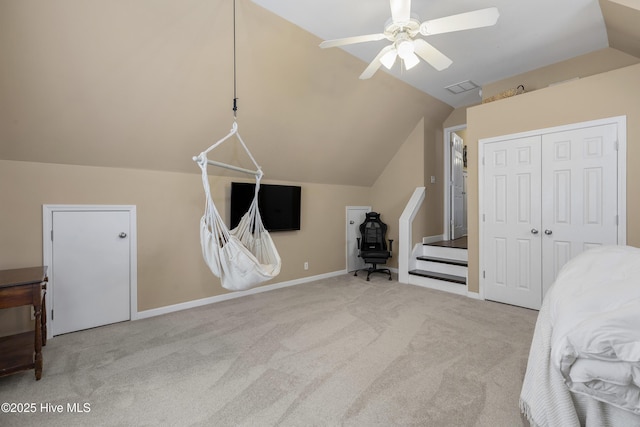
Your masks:
{"label": "small flat white door beside the dark wooden table", "polygon": [[130,212],[52,213],[53,335],[130,319]]}

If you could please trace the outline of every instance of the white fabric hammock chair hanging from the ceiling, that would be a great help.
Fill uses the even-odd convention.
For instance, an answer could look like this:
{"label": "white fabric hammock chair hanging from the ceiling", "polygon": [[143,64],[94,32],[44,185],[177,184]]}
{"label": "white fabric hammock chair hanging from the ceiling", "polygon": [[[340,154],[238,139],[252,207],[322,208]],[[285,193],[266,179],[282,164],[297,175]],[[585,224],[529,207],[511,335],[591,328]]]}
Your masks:
{"label": "white fabric hammock chair hanging from the ceiling", "polygon": [[[207,153],[233,136],[237,137],[249,155],[256,167],[255,171],[207,159]],[[204,215],[200,220],[200,244],[202,245],[202,256],[211,272],[220,278],[223,288],[231,291],[243,291],[273,279],[280,273],[282,261],[269,232],[262,224],[258,209],[258,192],[263,173],[240,137],[237,123],[233,123],[231,132],[227,136],[200,153],[199,156],[194,157],[193,160],[202,169],[202,185],[206,205]],[[220,166],[255,176],[256,189],[253,201],[247,213],[233,230],[229,230],[222,221],[211,198],[207,175],[208,165]]]}

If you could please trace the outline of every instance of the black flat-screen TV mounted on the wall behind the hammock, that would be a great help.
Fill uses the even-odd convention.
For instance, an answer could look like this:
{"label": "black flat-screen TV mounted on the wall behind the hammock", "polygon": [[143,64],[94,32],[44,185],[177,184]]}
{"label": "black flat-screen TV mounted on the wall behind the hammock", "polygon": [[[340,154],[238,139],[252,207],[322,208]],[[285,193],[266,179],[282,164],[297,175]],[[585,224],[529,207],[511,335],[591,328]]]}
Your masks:
{"label": "black flat-screen TV mounted on the wall behind the hammock", "polygon": [[[231,183],[231,228],[235,228],[249,210],[255,188],[252,183]],[[300,230],[301,193],[298,186],[260,184],[258,206],[268,231]]]}

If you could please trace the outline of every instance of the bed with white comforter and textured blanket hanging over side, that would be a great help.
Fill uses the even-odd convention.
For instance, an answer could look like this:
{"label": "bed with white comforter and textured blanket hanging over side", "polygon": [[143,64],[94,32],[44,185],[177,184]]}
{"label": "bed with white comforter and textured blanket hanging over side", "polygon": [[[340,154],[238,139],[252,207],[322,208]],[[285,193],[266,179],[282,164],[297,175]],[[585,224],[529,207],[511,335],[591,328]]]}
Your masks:
{"label": "bed with white comforter and textured blanket hanging over side", "polygon": [[569,261],[538,314],[520,409],[532,426],[640,426],[640,249]]}

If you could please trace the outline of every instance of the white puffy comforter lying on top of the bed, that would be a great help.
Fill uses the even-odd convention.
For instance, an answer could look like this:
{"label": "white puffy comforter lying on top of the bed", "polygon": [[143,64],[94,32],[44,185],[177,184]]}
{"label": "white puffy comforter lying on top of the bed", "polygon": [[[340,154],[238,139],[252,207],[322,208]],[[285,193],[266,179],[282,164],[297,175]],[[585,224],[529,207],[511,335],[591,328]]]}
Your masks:
{"label": "white puffy comforter lying on top of the bed", "polygon": [[551,360],[569,389],[640,414],[640,249],[586,251],[549,294]]}

